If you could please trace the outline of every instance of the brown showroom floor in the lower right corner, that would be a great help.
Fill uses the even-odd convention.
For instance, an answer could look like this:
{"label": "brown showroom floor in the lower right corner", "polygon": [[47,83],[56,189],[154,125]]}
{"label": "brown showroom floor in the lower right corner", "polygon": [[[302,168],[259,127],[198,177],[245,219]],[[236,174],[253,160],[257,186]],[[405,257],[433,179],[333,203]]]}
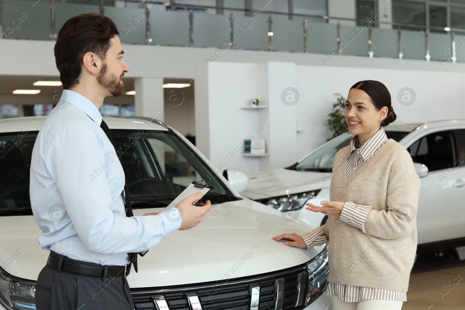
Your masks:
{"label": "brown showroom floor in the lower right corner", "polygon": [[407,300],[402,310],[465,310],[465,265],[412,273]]}

